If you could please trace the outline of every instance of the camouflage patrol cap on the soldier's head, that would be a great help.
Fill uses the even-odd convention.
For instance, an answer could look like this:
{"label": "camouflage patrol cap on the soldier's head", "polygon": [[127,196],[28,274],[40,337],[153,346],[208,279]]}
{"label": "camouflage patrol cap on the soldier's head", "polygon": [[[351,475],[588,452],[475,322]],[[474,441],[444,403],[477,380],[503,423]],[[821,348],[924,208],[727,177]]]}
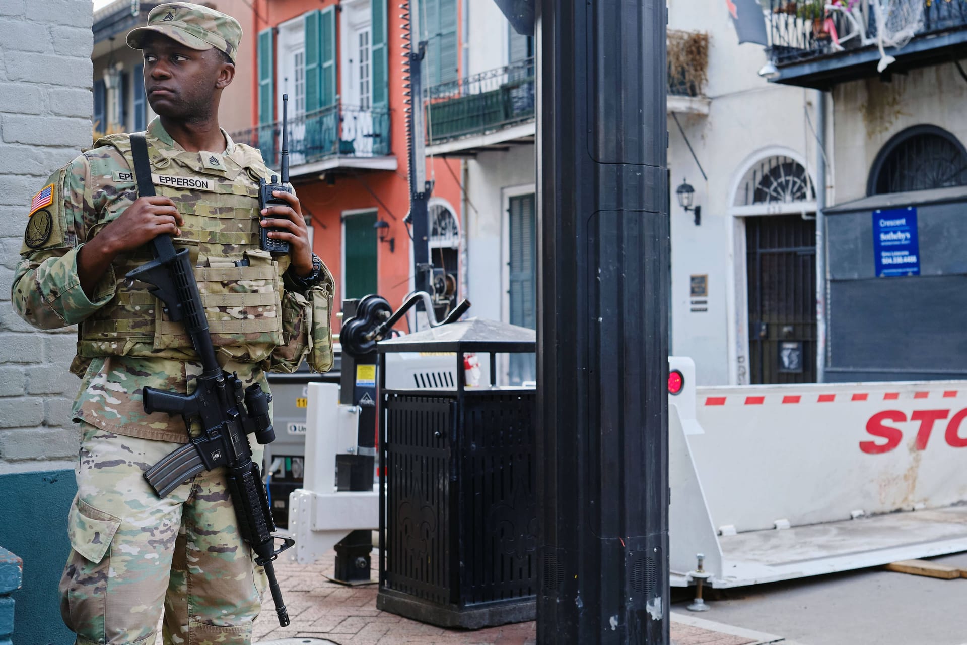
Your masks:
{"label": "camouflage patrol cap on the soldier's head", "polygon": [[215,47],[225,52],[232,61],[242,40],[242,25],[238,20],[190,2],[169,2],[152,9],[148,24],[132,29],[128,34],[128,44],[140,49],[144,37],[152,32],[192,49]]}

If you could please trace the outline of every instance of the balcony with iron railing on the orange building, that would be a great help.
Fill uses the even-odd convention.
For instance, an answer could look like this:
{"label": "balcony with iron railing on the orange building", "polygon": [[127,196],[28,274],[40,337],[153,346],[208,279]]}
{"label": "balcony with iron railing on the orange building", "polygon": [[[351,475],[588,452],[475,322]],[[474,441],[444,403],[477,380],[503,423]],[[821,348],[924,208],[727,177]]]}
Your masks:
{"label": "balcony with iron railing on the orange building", "polygon": [[[313,175],[337,168],[396,170],[390,154],[390,111],[331,105],[289,119],[289,175]],[[281,122],[232,132],[239,143],[262,152],[270,168],[278,170]]]}

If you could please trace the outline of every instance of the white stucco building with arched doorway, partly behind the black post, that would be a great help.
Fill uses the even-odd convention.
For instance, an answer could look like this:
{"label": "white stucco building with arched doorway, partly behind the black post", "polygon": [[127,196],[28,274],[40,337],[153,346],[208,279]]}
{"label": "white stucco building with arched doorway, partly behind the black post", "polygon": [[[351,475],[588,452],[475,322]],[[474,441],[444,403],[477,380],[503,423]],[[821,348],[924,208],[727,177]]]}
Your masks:
{"label": "white stucco building with arched doorway, partly behind the black post", "polygon": [[[799,294],[797,318],[771,310],[770,299],[762,307],[761,280],[753,279],[750,311],[749,271],[763,267],[754,259],[761,253],[749,265],[746,238],[762,231],[796,237],[785,255],[806,261],[783,276],[782,289],[814,285],[802,247],[814,235],[816,145],[806,113],[815,123],[816,93],[761,77],[763,48],[738,44],[718,0],[668,5],[669,48],[679,47],[668,99],[672,351],[695,360],[702,384],[812,380],[814,313],[799,303],[812,303],[812,296]],[[464,160],[464,275],[475,314],[534,326],[534,45],[513,32],[494,3],[464,2],[460,18],[461,77],[430,88],[427,152]],[[675,197],[686,180],[701,208],[697,225]],[[763,321],[767,338],[749,341],[749,329]],[[798,371],[778,372],[783,338],[802,343]],[[757,361],[765,368],[753,370]]]}

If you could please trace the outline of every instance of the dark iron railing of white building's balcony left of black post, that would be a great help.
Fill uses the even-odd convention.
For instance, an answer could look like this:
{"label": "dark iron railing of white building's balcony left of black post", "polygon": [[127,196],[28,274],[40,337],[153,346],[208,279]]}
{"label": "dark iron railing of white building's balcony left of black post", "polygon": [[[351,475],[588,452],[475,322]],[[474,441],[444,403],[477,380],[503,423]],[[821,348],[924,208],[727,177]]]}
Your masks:
{"label": "dark iron railing of white building's balcony left of black post", "polygon": [[432,145],[534,119],[533,58],[429,88],[427,141]]}

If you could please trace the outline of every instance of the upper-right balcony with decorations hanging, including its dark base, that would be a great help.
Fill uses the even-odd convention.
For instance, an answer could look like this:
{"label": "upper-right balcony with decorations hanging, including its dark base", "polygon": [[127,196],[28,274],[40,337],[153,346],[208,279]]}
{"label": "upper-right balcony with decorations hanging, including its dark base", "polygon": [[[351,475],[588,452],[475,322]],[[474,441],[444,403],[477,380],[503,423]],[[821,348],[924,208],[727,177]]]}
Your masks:
{"label": "upper-right balcony with decorations hanging, including its dark base", "polygon": [[[885,15],[877,2],[890,8],[889,18],[877,19]],[[770,10],[769,52],[778,71],[772,80],[787,85],[828,90],[878,73],[949,62],[967,47],[967,0],[770,0]],[[881,37],[895,60],[878,69]]]}

